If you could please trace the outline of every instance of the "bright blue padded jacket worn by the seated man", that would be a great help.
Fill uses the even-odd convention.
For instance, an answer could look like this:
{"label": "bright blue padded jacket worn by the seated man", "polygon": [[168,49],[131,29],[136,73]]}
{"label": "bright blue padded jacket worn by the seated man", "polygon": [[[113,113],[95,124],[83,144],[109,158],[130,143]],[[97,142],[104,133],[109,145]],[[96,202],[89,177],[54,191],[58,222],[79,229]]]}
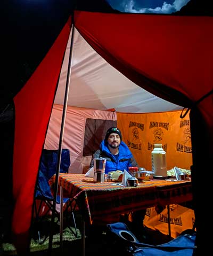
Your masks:
{"label": "bright blue padded jacket worn by the seated man", "polygon": [[[109,173],[116,170],[126,169],[128,171],[128,167],[130,166],[138,166],[133,154],[130,152],[128,146],[121,141],[119,145],[119,156],[118,159],[114,157],[114,155],[110,152],[107,146],[107,142],[104,140],[100,144],[100,149],[95,151],[94,158],[103,157],[106,158],[106,167],[105,173]],[[91,167],[93,163],[91,164]]]}

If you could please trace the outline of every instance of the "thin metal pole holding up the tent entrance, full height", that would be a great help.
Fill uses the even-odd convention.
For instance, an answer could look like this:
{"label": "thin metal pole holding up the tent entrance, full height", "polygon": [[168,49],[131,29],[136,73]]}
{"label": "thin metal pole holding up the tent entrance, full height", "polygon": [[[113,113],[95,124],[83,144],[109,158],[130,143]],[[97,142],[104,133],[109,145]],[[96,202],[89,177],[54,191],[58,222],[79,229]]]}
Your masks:
{"label": "thin metal pole holding up the tent entrance, full height", "polygon": [[59,173],[60,173],[60,165],[61,165],[61,151],[62,151],[65,115],[66,115],[66,112],[67,112],[67,102],[68,102],[68,95],[69,95],[69,86],[70,86],[74,31],[75,31],[75,29],[74,29],[74,26],[73,26],[73,23],[72,23],[72,35],[71,35],[71,43],[70,43],[70,56],[69,56],[69,63],[68,63],[68,73],[67,73],[67,81],[66,81],[66,87],[65,87],[63,113],[62,113],[61,130],[60,130],[59,151],[58,151],[56,174],[55,174],[53,210],[52,210],[51,227],[50,227],[50,238],[49,238],[49,244],[48,244],[48,255],[51,255],[52,244],[53,244],[53,223],[55,221],[55,207],[56,207],[56,197],[57,197],[57,194],[58,194]]}

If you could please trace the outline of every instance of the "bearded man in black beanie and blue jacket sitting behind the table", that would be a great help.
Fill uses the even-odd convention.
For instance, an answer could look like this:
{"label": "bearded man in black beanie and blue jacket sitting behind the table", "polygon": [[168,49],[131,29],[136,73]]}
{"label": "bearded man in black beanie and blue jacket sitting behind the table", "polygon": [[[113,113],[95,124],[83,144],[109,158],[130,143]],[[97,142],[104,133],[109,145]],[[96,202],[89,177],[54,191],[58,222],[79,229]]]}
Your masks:
{"label": "bearded man in black beanie and blue jacket sitting behind the table", "polygon": [[[116,127],[111,127],[106,131],[105,139],[100,144],[100,149],[95,151],[93,158],[103,157],[106,159],[105,173],[128,167],[138,167],[138,164],[130,152],[128,146],[122,141],[121,131]],[[93,160],[91,166],[93,166]],[[128,222],[130,230],[138,239],[143,235],[143,220],[146,210],[132,212],[132,222]],[[124,219],[123,219],[124,220]],[[125,221],[125,220],[124,220]],[[126,221],[125,221],[126,222]]]}

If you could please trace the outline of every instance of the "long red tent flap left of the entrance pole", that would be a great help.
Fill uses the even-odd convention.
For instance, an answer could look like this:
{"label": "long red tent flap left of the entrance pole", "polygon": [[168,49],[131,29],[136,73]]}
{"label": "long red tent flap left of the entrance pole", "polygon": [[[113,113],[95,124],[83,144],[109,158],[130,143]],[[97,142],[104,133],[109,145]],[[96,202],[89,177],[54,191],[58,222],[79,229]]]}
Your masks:
{"label": "long red tent flap left of the entrance pole", "polygon": [[39,161],[69,32],[70,26],[67,24],[42,63],[14,97],[12,231],[18,253],[27,253],[24,250],[28,250]]}

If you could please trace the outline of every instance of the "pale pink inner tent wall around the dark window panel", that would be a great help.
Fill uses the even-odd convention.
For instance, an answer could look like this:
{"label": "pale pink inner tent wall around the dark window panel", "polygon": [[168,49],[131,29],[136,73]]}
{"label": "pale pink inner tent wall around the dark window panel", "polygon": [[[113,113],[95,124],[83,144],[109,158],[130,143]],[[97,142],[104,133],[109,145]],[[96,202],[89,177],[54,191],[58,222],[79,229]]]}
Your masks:
{"label": "pale pink inner tent wall around the dark window panel", "polygon": [[[63,106],[54,104],[45,140],[45,149],[58,149]],[[70,150],[70,173],[83,173],[92,156],[83,157],[86,119],[117,120],[117,114],[107,110],[67,107],[62,148]]]}

